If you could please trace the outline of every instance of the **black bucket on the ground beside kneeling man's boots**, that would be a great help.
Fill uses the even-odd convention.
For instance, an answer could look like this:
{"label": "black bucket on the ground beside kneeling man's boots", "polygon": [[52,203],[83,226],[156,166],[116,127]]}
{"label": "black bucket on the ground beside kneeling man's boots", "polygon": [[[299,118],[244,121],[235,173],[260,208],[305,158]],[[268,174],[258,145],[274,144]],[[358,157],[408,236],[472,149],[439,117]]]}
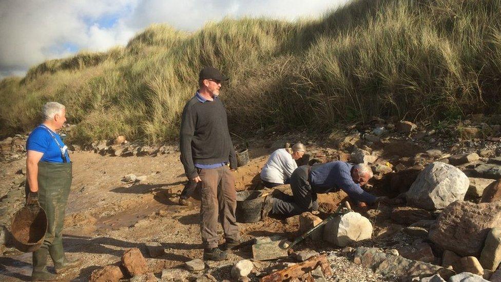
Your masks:
{"label": "black bucket on the ground beside kneeling man's boots", "polygon": [[265,197],[262,191],[237,192],[235,215],[238,222],[251,223],[261,220],[261,209]]}

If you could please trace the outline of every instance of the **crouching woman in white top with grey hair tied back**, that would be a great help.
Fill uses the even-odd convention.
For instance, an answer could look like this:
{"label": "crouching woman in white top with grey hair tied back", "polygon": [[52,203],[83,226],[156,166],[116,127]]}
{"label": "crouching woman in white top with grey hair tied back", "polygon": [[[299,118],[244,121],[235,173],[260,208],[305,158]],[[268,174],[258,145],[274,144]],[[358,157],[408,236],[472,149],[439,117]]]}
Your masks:
{"label": "crouching woman in white top with grey hair tied back", "polygon": [[287,184],[297,168],[295,160],[302,158],[304,153],[306,153],[306,148],[301,143],[294,144],[292,148],[278,149],[273,152],[261,170],[261,180],[264,186],[272,188]]}

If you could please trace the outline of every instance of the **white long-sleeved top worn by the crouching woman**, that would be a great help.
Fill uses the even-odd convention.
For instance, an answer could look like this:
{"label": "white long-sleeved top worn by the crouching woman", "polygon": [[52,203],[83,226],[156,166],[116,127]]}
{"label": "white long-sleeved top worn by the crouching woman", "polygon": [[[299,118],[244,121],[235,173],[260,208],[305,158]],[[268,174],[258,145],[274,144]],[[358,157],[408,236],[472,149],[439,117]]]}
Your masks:
{"label": "white long-sleeved top worn by the crouching woman", "polygon": [[271,183],[285,183],[297,168],[296,161],[285,149],[278,149],[269,155],[261,170],[261,179]]}

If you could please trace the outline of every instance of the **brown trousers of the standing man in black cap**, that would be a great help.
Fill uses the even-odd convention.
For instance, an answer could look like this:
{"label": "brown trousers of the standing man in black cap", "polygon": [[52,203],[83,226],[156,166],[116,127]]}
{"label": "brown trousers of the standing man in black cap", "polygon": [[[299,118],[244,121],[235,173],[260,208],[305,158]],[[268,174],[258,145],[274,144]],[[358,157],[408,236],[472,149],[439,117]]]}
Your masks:
{"label": "brown trousers of the standing man in black cap", "polygon": [[202,179],[200,229],[204,248],[218,247],[218,218],[225,239],[239,240],[240,234],[235,217],[237,192],[232,172],[223,165],[218,168],[202,169],[199,175]]}

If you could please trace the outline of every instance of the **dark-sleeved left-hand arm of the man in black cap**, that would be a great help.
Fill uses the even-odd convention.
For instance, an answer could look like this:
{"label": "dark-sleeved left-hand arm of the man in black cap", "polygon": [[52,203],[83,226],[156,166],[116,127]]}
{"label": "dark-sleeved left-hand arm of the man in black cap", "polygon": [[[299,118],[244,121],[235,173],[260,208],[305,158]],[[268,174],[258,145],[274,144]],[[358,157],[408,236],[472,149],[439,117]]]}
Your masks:
{"label": "dark-sleeved left-hand arm of the man in black cap", "polygon": [[194,113],[190,109],[190,105],[186,104],[183,109],[181,118],[181,130],[179,133],[179,149],[181,151],[181,163],[184,166],[184,172],[188,179],[194,179],[196,182],[200,180],[193,163],[193,156],[191,155],[191,139],[195,134],[195,118]]}

